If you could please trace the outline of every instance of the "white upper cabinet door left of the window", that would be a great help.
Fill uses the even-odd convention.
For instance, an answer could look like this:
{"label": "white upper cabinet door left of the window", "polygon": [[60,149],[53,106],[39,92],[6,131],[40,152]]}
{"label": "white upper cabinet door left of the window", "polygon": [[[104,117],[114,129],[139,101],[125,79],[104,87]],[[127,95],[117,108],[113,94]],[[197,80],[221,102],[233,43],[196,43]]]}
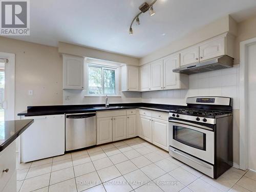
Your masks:
{"label": "white upper cabinet door left of the window", "polygon": [[82,57],[63,56],[63,89],[83,90]]}

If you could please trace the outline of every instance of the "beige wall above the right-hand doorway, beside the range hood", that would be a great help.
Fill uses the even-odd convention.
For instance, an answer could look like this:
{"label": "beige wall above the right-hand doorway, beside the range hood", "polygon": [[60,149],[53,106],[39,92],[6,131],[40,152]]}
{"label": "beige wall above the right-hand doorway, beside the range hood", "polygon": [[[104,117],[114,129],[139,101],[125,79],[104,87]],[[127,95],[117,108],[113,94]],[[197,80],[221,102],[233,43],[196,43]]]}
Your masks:
{"label": "beige wall above the right-hand doorway, beside the range hood", "polygon": [[236,38],[234,54],[237,56],[235,63],[239,63],[240,58],[240,42],[256,37],[256,16],[244,20],[238,24],[238,36]]}

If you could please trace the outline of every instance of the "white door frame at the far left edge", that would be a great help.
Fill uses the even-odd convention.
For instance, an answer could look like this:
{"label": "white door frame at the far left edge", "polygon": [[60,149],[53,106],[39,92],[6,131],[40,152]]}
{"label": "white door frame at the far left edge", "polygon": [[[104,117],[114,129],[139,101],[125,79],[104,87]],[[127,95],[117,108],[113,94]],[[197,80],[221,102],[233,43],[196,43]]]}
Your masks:
{"label": "white door frame at the far left edge", "polygon": [[7,119],[5,120],[14,120],[15,119],[15,54],[13,53],[4,53],[0,52],[0,58],[8,59],[7,65],[10,66],[8,70],[5,69],[6,79],[8,82],[7,91]]}

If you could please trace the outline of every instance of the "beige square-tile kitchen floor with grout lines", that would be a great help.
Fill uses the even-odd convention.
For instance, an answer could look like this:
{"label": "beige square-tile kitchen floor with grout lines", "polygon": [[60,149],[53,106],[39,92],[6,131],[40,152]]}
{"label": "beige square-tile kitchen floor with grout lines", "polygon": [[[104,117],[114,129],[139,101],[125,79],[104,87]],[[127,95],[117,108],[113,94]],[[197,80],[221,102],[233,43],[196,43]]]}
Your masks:
{"label": "beige square-tile kitchen floor with grout lines", "polygon": [[256,191],[256,173],[230,168],[217,180],[140,138],[17,165],[17,191]]}

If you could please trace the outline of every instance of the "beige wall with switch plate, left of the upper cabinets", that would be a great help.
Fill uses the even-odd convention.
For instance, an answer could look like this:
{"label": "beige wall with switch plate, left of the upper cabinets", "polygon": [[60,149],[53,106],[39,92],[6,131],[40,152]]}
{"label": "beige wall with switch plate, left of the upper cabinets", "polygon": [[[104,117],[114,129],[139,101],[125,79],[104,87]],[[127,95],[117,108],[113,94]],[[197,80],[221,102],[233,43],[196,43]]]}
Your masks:
{"label": "beige wall with switch plate, left of the upper cabinets", "polygon": [[62,104],[62,58],[56,47],[0,37],[0,52],[15,54],[15,116],[28,105]]}

